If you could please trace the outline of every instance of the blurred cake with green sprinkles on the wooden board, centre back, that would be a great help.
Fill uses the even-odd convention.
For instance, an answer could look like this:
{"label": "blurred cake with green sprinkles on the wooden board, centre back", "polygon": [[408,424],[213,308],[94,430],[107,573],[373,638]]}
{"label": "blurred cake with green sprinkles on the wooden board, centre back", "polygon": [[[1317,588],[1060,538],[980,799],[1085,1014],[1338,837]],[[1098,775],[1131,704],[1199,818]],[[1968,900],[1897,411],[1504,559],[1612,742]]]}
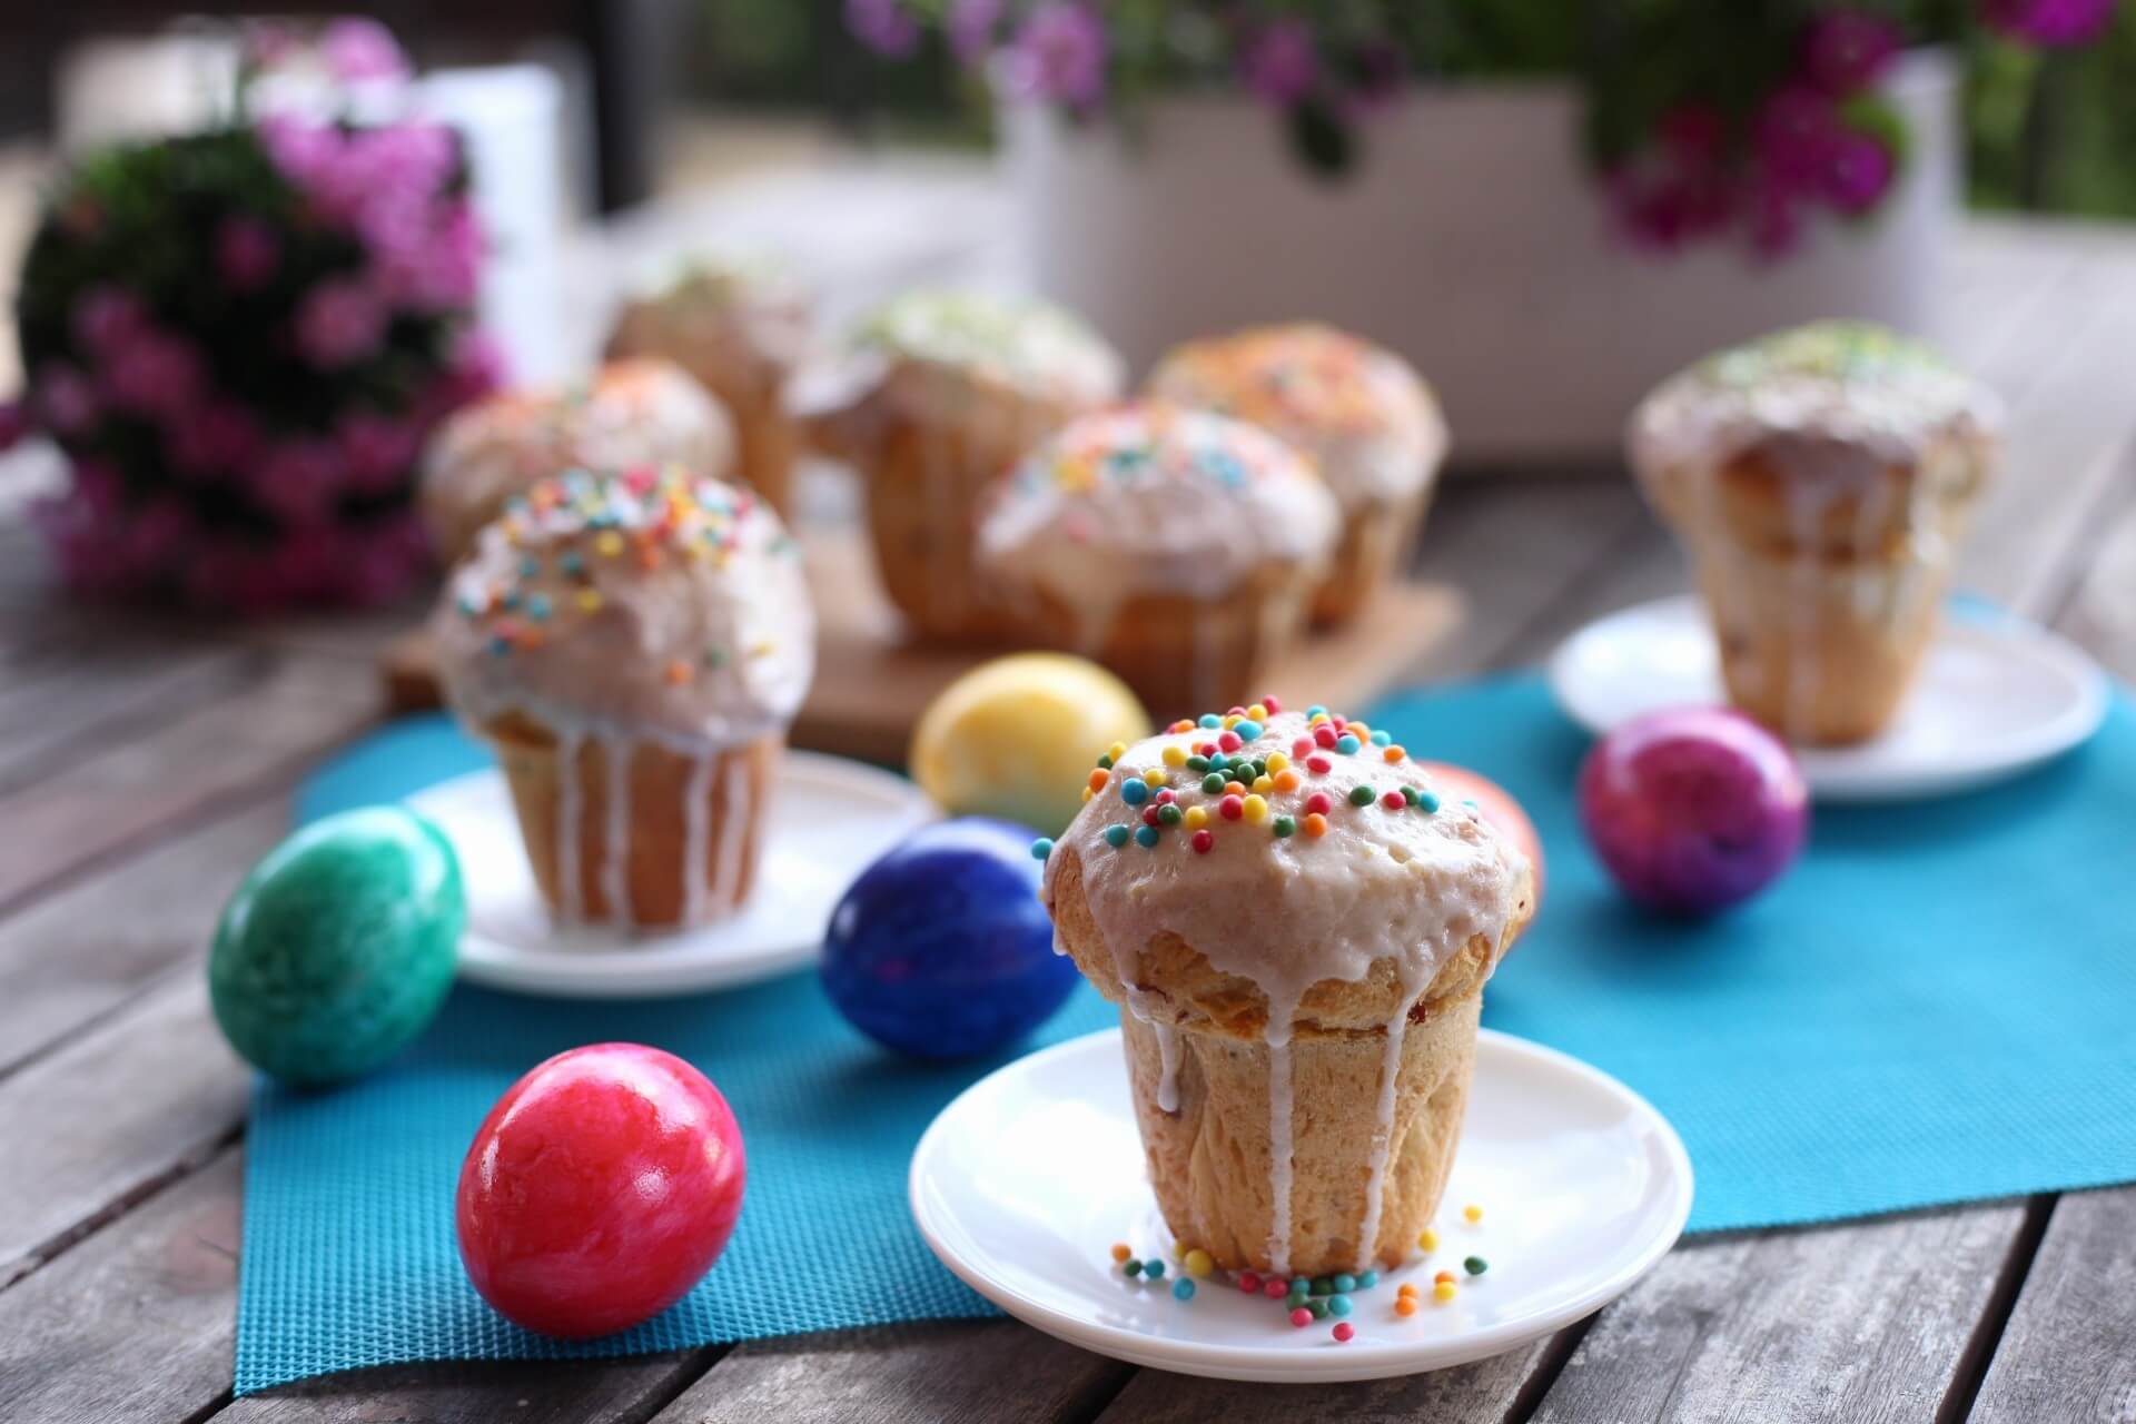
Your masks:
{"label": "blurred cake with green sprinkles on the wooden board, centre back", "polygon": [[1008,632],[974,559],[987,487],[1072,416],[1119,395],[1119,357],[1032,299],[906,292],[869,316],[818,442],[861,470],[884,591],[927,638]]}

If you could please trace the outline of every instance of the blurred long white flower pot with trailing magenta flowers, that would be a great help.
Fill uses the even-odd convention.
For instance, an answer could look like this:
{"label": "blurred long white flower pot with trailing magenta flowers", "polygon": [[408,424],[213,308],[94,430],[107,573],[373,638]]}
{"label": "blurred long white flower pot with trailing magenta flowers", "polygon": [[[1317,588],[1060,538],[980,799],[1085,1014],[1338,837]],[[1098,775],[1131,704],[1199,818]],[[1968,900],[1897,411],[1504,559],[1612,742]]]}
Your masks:
{"label": "blurred long white flower pot with trailing magenta flowers", "polygon": [[1927,325],[1959,211],[1954,64],[1910,53],[1888,90],[1912,130],[1899,184],[1867,222],[1813,226],[1777,263],[1630,248],[1568,83],[1420,90],[1367,124],[1337,181],[1243,96],[1158,100],[1134,139],[1010,105],[1004,162],[1038,290],[1136,369],[1181,337],[1320,318],[1408,354],[1459,457],[1585,457],[1717,346],[1818,316]]}

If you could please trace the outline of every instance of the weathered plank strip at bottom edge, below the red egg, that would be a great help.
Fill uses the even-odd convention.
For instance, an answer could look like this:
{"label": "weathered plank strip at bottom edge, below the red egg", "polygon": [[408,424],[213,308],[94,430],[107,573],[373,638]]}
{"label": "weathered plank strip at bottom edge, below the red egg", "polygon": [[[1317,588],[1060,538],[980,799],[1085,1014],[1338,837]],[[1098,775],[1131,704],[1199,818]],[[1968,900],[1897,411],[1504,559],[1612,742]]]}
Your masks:
{"label": "weathered plank strip at bottom edge, below the red egg", "polygon": [[216,1424],[637,1424],[718,1349],[637,1360],[395,1364],[248,1394]]}

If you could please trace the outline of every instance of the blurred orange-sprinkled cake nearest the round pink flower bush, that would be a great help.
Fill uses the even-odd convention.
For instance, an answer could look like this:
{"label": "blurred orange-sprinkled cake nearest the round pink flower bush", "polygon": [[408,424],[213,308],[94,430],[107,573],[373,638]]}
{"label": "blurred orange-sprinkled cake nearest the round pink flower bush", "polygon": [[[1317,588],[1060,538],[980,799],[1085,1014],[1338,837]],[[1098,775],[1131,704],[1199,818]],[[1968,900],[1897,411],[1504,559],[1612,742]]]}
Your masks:
{"label": "blurred orange-sprinkled cake nearest the round pink flower bush", "polygon": [[611,361],[590,380],[504,391],[455,414],[423,453],[417,502],[451,564],[506,500],[551,474],[679,463],[724,476],[733,459],[726,412],[681,367]]}

